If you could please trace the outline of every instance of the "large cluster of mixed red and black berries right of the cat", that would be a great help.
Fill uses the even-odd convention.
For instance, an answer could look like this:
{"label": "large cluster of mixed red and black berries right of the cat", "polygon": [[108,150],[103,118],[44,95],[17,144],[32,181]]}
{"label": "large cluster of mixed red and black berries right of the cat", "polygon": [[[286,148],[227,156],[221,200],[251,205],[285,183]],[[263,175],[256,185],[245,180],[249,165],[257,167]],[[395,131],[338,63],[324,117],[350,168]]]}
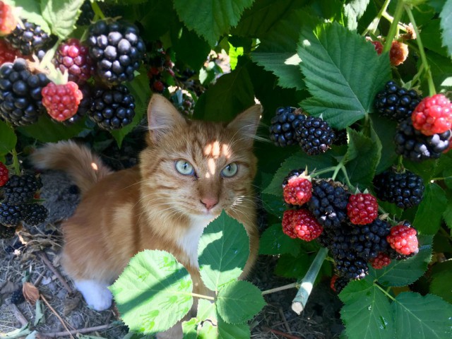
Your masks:
{"label": "large cluster of mixed red and black berries right of the cat", "polygon": [[369,264],[382,268],[391,257],[417,253],[416,231],[409,225],[391,227],[379,218],[376,197],[367,191],[350,194],[340,182],[295,169],[283,179],[283,197],[289,207],[283,213],[283,232],[308,242],[318,239],[329,249],[338,275],[332,282],[335,290],[364,278]]}

